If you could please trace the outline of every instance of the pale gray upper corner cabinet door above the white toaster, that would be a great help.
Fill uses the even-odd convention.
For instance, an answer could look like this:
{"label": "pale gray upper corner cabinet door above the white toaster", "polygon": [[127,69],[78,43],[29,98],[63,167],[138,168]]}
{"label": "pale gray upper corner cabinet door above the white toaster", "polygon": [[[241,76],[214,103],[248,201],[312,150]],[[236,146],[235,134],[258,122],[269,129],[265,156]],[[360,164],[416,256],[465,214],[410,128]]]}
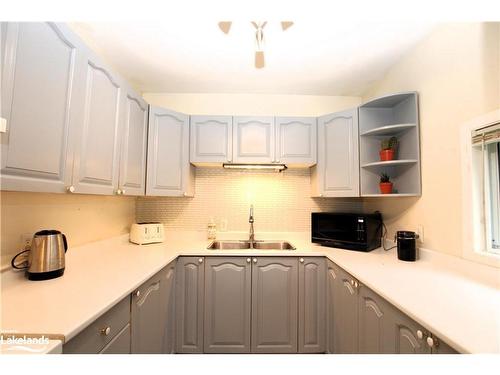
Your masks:
{"label": "pale gray upper corner cabinet door above the white toaster", "polygon": [[150,106],[147,171],[146,195],[194,195],[188,115]]}

